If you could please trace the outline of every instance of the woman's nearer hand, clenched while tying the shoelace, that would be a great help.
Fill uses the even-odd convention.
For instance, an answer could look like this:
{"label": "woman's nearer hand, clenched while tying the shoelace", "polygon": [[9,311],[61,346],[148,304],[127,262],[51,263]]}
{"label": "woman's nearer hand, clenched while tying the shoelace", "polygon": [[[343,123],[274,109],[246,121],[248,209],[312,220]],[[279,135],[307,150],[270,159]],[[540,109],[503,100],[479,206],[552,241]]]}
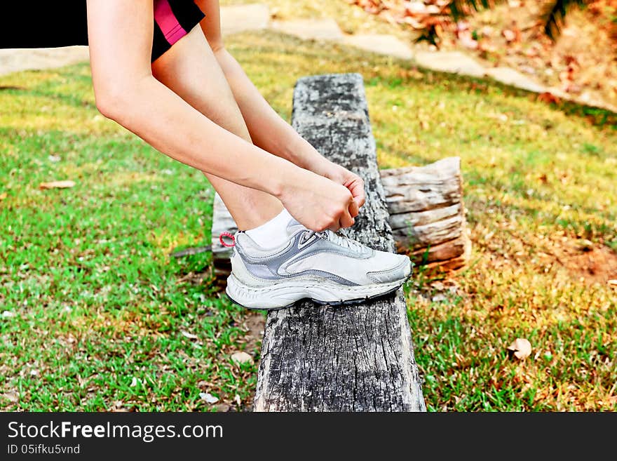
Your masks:
{"label": "woman's nearer hand, clenched while tying the shoelace", "polygon": [[278,196],[294,218],[317,232],[353,226],[358,205],[347,187],[303,168],[294,173]]}

